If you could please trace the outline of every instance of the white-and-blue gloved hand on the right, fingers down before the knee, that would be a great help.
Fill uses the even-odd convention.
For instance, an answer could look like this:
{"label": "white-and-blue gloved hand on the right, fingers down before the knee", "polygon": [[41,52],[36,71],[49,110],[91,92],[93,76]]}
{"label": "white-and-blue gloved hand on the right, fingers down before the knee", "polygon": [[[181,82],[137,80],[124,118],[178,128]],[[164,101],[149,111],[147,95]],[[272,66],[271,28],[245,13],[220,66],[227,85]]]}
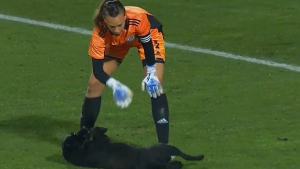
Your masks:
{"label": "white-and-blue gloved hand on the right, fingers down before the knee", "polygon": [[142,81],[142,91],[148,91],[150,97],[157,98],[163,94],[163,88],[156,76],[156,67],[147,66],[147,75]]}

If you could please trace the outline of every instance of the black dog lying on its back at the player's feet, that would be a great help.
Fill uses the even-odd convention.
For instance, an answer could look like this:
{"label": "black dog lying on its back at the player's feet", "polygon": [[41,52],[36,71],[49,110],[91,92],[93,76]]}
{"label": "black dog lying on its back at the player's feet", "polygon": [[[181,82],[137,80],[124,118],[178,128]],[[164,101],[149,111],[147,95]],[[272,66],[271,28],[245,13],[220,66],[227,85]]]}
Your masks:
{"label": "black dog lying on its back at the player's feet", "polygon": [[68,135],[62,143],[62,155],[75,166],[104,169],[181,169],[180,161],[171,161],[179,156],[188,161],[201,161],[204,156],[190,156],[178,148],[156,144],[136,148],[125,143],[113,143],[105,134],[106,128],[85,128]]}

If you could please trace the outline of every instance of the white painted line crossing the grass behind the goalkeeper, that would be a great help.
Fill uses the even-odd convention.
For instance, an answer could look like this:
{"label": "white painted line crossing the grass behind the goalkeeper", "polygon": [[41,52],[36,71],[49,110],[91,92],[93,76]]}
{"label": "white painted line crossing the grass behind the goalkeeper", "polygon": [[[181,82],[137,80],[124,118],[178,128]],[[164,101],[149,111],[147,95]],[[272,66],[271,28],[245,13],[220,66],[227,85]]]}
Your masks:
{"label": "white painted line crossing the grass behind the goalkeeper", "polygon": [[[65,26],[65,25],[61,25],[61,24],[37,21],[37,20],[33,20],[33,19],[27,19],[27,18],[11,16],[11,15],[0,14],[0,19],[20,22],[20,23],[25,23],[25,24],[30,24],[30,25],[37,25],[37,26],[42,26],[42,27],[47,27],[47,28],[52,28],[52,29],[58,29],[58,30],[83,34],[83,35],[91,35],[92,34],[91,30],[87,30],[87,29],[83,29],[83,28],[70,27],[70,26]],[[256,63],[256,64],[260,64],[260,65],[267,65],[267,66],[276,67],[276,68],[288,69],[288,70],[291,70],[294,72],[300,72],[300,66],[294,66],[294,65],[290,65],[290,64],[286,64],[286,63],[278,63],[278,62],[273,62],[273,61],[269,61],[269,60],[256,59],[256,58],[252,58],[252,57],[248,57],[248,56],[235,55],[232,53],[204,49],[204,48],[200,48],[200,47],[179,45],[179,44],[170,43],[170,42],[166,42],[165,45],[166,45],[166,47],[169,47],[169,48],[180,49],[180,50],[185,50],[185,51],[190,51],[190,52],[203,53],[203,54],[209,54],[209,55],[214,55],[214,56],[223,57],[223,58],[230,58],[230,59],[235,59],[235,60],[243,60],[246,62]]]}

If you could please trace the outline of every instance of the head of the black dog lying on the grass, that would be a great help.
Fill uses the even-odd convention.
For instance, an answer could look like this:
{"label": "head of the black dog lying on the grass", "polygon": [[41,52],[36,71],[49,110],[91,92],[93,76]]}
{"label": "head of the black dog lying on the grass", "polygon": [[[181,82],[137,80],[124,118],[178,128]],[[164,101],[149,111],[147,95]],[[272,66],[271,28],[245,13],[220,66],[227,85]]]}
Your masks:
{"label": "head of the black dog lying on the grass", "polygon": [[89,131],[86,128],[80,129],[77,133],[71,132],[62,142],[63,150],[77,150],[89,139]]}

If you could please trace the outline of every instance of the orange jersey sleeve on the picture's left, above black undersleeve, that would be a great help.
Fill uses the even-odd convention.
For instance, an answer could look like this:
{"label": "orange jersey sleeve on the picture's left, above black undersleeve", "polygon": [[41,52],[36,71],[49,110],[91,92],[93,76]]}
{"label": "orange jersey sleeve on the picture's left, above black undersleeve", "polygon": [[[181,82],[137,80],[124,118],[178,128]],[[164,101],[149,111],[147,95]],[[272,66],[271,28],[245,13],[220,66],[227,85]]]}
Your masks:
{"label": "orange jersey sleeve on the picture's left, above black undersleeve", "polygon": [[105,39],[98,35],[99,30],[94,29],[89,44],[88,54],[94,59],[103,59],[105,51]]}

